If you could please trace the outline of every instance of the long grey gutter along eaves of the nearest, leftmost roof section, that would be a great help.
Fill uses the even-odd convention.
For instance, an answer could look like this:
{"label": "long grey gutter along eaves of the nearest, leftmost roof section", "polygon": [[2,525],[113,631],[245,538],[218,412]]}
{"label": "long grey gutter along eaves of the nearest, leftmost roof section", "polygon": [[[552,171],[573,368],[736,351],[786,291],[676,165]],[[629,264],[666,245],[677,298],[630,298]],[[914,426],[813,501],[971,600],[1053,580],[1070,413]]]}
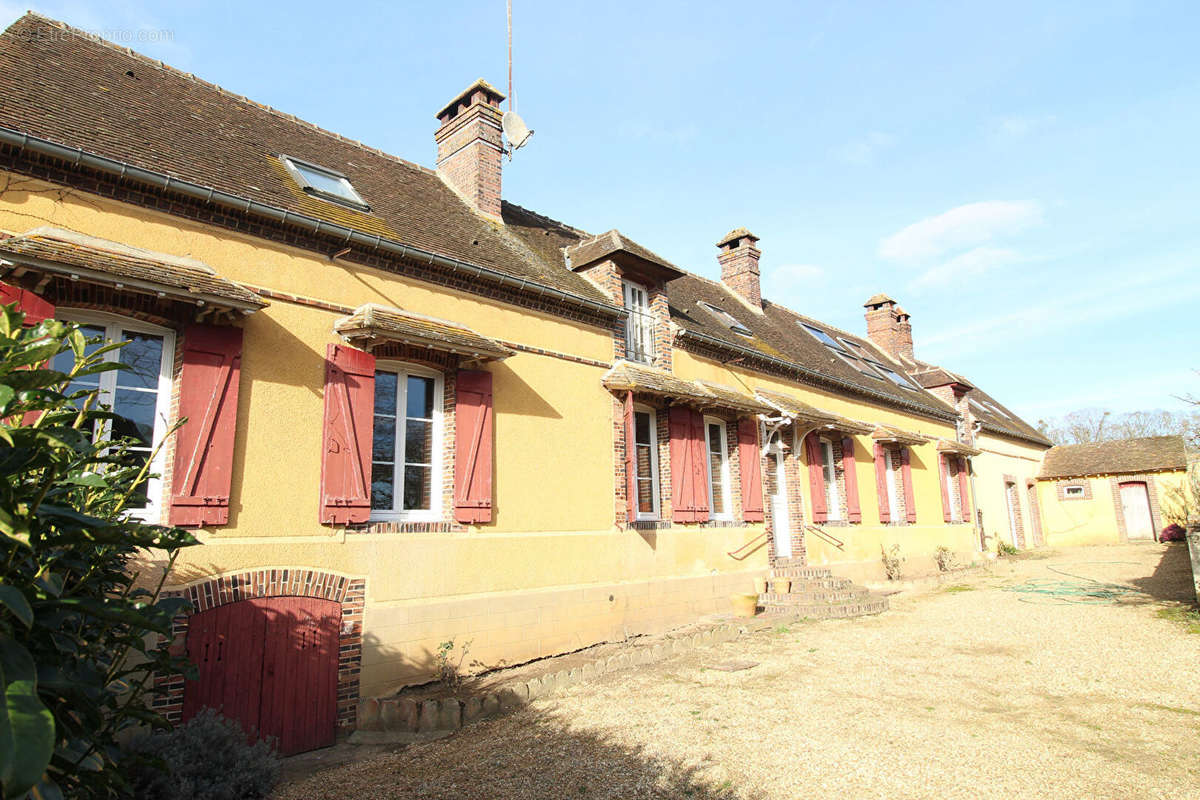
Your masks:
{"label": "long grey gutter along eaves of the nearest, leftmost roof section", "polygon": [[358,245],[359,247],[366,248],[368,252],[382,251],[401,259],[426,261],[427,264],[436,264],[438,266],[450,269],[454,272],[467,273],[476,278],[486,278],[493,283],[514,288],[517,291],[534,291],[534,296],[545,296],[559,300],[571,306],[587,308],[588,311],[596,312],[605,317],[624,318],[628,315],[628,312],[624,308],[617,308],[616,306],[589,300],[588,297],[582,297],[570,291],[554,289],[553,287],[548,287],[529,278],[515,278],[511,275],[505,275],[504,272],[492,270],[486,266],[470,264],[448,255],[439,255],[438,253],[421,249],[420,247],[413,247],[412,245],[406,245],[394,239],[365,234],[334,222],[325,222],[324,219],[318,219],[317,217],[311,217],[305,213],[288,211],[287,209],[251,200],[246,197],[222,192],[212,188],[211,186],[203,186],[200,184],[193,184],[179,178],[172,178],[166,173],[158,173],[151,169],[136,167],[125,161],[118,161],[115,158],[108,158],[107,156],[88,152],[82,148],[68,148],[66,145],[50,142],[49,139],[42,139],[13,128],[0,126],[0,144],[8,144],[20,151],[29,150],[31,152],[66,161],[79,167],[88,167],[120,179],[149,184],[150,186],[156,186],[164,191],[179,192],[180,194],[197,200],[203,200],[233,211],[274,219],[283,224],[308,228],[314,235],[338,237],[344,243]]}

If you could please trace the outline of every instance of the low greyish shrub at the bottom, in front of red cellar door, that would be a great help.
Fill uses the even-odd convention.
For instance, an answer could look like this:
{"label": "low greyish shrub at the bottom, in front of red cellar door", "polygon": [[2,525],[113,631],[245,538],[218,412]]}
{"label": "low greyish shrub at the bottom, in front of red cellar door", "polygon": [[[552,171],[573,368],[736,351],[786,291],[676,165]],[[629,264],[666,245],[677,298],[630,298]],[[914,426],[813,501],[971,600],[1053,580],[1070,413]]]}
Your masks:
{"label": "low greyish shrub at the bottom, in front of red cellar door", "polygon": [[212,709],[168,733],[134,741],[130,783],[145,800],[258,800],[280,764],[265,741],[248,744],[241,726]]}

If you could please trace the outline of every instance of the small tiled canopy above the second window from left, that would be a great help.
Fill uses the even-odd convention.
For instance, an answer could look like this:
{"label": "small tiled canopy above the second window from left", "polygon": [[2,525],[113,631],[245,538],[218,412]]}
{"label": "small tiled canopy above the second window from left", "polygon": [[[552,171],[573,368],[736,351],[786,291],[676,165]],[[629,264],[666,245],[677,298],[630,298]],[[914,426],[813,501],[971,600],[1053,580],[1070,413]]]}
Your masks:
{"label": "small tiled canopy above the second window from left", "polygon": [[466,325],[377,303],[359,306],[349,317],[335,321],[334,330],[349,341],[403,342],[488,361],[514,354],[510,348]]}

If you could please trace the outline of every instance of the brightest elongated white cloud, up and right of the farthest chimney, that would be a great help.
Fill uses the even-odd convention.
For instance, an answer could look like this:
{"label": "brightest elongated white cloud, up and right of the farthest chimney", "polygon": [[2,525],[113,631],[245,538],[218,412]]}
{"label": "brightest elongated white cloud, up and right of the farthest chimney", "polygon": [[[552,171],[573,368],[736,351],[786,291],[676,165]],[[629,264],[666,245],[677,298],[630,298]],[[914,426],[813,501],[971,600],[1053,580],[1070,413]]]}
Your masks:
{"label": "brightest elongated white cloud, up and right of the farthest chimney", "polygon": [[979,247],[1015,234],[1040,218],[1042,206],[1034,201],[967,203],[883,239],[880,255],[889,261],[920,264],[950,251]]}

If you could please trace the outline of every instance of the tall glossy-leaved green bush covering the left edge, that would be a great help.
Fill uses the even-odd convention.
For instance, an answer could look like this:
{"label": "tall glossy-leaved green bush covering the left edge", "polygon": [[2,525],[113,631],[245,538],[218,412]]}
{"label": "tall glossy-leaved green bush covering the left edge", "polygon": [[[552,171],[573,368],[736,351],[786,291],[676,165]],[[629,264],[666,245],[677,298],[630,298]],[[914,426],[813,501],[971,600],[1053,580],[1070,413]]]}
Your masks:
{"label": "tall glossy-leaved green bush covering the left edge", "polygon": [[[101,357],[120,344],[23,318],[0,307],[0,796],[124,796],[121,734],[164,727],[152,675],[187,668],[157,636],[187,603],[157,593],[194,539],[125,513],[149,462],[106,437],[95,391],[70,389],[122,368]],[[67,351],[68,373],[48,368]]]}

